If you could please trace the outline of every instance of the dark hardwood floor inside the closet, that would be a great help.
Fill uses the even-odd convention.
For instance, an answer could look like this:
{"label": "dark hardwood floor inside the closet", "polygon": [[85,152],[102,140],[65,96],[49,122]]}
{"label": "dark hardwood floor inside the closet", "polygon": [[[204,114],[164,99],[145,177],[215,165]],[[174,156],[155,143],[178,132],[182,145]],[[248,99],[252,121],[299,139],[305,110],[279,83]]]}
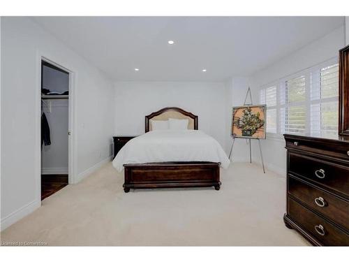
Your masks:
{"label": "dark hardwood floor inside the closet", "polygon": [[41,175],[41,201],[68,185],[68,175]]}

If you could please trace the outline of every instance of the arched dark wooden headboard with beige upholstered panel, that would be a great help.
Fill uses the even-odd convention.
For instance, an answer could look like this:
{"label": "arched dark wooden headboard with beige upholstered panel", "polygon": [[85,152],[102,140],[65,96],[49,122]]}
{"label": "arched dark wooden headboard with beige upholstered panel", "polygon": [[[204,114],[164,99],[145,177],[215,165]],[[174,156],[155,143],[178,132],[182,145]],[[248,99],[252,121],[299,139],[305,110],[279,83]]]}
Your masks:
{"label": "arched dark wooden headboard with beige upholstered panel", "polygon": [[169,118],[188,119],[188,129],[198,130],[197,115],[193,115],[191,112],[186,112],[186,110],[181,108],[163,108],[145,116],[145,133],[151,131],[150,119],[168,120]]}

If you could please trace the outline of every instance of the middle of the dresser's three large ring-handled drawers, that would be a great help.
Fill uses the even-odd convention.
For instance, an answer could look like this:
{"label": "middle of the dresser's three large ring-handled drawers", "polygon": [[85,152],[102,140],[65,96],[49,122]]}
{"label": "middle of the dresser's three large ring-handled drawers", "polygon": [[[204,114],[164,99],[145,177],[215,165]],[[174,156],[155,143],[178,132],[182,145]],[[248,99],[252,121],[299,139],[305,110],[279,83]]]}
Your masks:
{"label": "middle of the dresser's three large ring-handled drawers", "polygon": [[337,198],[290,176],[288,193],[349,230],[349,201]]}

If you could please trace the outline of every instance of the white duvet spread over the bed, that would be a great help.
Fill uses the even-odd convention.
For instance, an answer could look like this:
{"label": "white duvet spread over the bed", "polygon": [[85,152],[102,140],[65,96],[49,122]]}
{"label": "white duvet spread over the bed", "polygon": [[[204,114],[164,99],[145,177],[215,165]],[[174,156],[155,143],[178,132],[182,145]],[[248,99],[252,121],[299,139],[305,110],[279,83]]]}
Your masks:
{"label": "white duvet spread over the bed", "polygon": [[220,162],[228,168],[229,159],[219,143],[198,130],[158,130],[133,138],[112,161],[119,172],[125,163],[172,161]]}

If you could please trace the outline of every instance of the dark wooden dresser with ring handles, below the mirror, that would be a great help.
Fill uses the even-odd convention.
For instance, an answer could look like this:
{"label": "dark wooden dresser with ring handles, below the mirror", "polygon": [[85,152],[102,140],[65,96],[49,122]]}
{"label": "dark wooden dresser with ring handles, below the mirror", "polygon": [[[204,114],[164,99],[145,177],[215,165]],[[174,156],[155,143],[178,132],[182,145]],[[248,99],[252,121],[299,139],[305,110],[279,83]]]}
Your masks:
{"label": "dark wooden dresser with ring handles, below the mirror", "polygon": [[349,139],[284,135],[285,226],[317,246],[349,245]]}

